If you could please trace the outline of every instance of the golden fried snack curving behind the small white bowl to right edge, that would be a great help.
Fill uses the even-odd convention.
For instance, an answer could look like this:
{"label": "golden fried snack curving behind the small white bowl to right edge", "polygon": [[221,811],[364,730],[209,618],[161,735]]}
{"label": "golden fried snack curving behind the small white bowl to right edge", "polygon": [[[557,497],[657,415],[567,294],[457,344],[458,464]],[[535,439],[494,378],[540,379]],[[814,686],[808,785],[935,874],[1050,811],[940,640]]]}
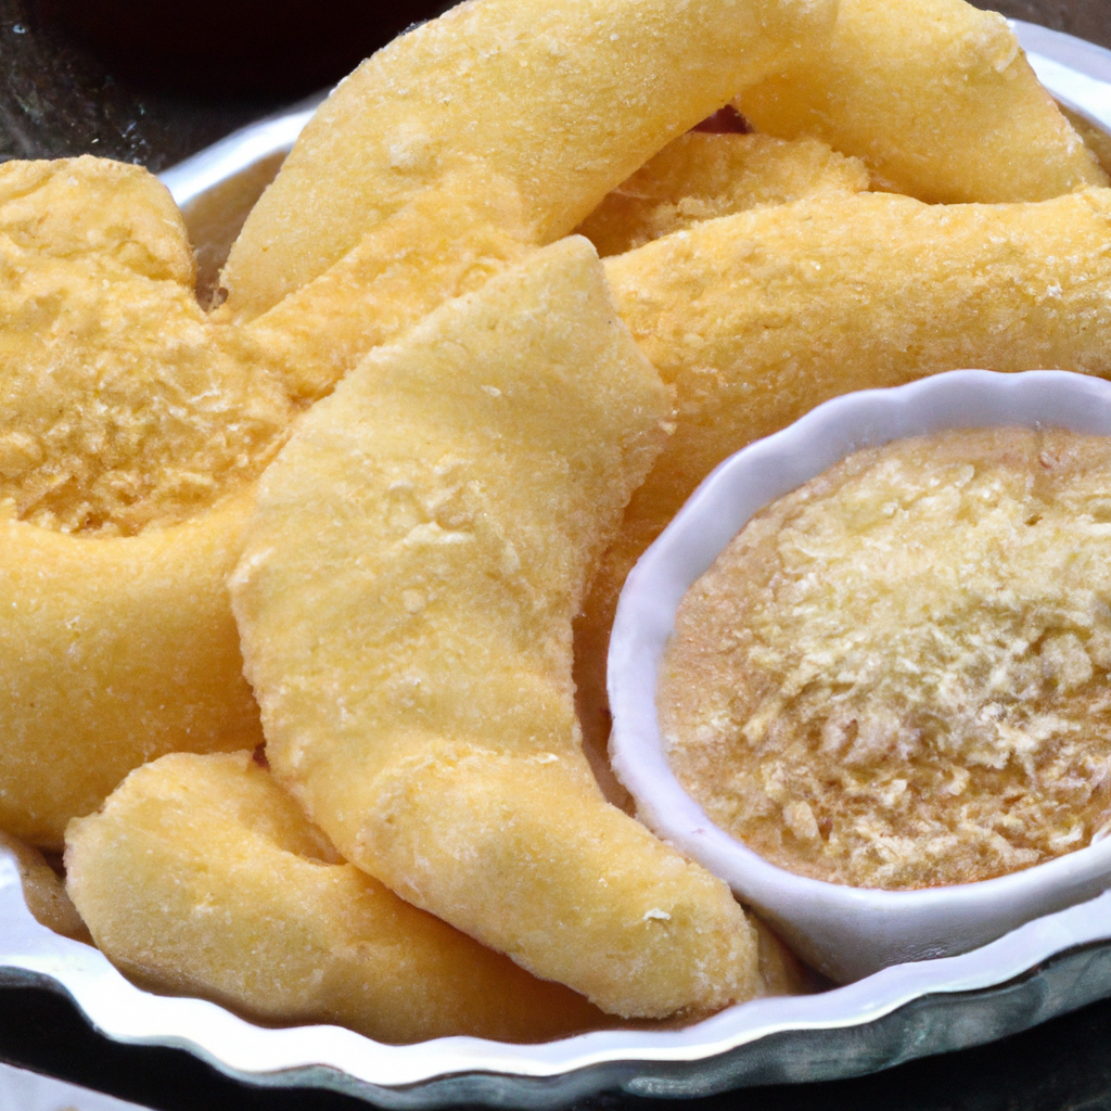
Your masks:
{"label": "golden fried snack curving behind the small white bowl to right edge", "polygon": [[697,224],[605,262],[622,320],[675,389],[577,629],[588,740],[640,553],[722,459],[829,398],[943,370],[1111,374],[1111,190],[1001,206],[819,197]]}

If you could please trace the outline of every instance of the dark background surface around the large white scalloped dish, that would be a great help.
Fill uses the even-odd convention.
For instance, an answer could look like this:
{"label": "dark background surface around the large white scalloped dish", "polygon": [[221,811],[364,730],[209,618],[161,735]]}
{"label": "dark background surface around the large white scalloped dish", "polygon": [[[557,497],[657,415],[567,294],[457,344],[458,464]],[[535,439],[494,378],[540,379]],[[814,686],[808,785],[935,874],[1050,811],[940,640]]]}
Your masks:
{"label": "dark background surface around the large white scalloped dish", "polygon": [[[163,170],[327,88],[432,2],[0,0],[0,160],[92,153]],[[988,7],[988,4],[979,4]],[[1111,0],[1003,0],[1004,14],[1111,48]],[[248,1089],[187,1053],[99,1038],[63,998],[0,989],[0,1060],[159,1111],[339,1111],[327,1092]],[[858,1080],[689,1101],[719,1111],[1111,1111],[1111,1000],[980,1049]],[[578,1111],[665,1111],[617,1093]],[[0,1111],[20,1111],[3,1108]]]}

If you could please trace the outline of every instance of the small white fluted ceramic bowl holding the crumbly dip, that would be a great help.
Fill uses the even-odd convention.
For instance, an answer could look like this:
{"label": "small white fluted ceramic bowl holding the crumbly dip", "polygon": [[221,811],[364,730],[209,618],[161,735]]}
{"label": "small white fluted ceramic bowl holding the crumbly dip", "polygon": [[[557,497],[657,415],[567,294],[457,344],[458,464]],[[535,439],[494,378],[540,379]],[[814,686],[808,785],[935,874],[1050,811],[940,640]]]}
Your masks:
{"label": "small white fluted ceramic bowl holding the crumbly dip", "polygon": [[715,827],[668,765],[655,689],[675,610],[750,517],[857,449],[1009,424],[1111,436],[1111,383],[1064,371],[957,370],[837,398],[721,463],[621,592],[609,653],[610,754],[638,817],[725,880],[799,957],[838,982],[967,952],[1093,898],[1111,887],[1111,838],[998,879],[917,891],[850,888],[777,868]]}

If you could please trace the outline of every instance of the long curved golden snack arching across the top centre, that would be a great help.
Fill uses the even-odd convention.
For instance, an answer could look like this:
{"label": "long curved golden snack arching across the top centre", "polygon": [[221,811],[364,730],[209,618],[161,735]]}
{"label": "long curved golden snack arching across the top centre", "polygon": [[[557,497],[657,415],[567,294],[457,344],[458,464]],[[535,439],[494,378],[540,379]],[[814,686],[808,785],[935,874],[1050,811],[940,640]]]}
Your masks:
{"label": "long curved golden snack arching across the top centre", "polygon": [[536,242],[738,91],[831,0],[471,0],[396,39],[306,128],[222,274],[250,319],[338,261],[453,170],[503,179]]}

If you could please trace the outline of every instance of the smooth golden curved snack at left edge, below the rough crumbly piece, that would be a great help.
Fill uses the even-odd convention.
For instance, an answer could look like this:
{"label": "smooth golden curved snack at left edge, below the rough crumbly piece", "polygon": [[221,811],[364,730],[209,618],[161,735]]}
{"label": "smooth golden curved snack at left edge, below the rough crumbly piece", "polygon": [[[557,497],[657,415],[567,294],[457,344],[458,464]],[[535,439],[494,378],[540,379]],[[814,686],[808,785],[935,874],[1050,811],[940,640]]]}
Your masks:
{"label": "smooth golden curved snack at left edge, below the rough crumbly piece", "polygon": [[261,741],[227,588],[251,502],[103,540],[0,522],[0,828],[61,848],[144,761]]}

